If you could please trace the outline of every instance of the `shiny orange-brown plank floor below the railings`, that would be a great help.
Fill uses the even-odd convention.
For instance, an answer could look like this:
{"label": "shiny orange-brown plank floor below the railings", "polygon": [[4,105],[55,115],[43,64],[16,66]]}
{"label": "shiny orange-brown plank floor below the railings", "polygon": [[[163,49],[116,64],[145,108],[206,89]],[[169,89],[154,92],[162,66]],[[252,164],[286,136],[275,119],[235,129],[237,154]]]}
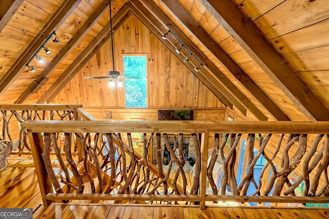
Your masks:
{"label": "shiny orange-brown plank floor below the railings", "polygon": [[[27,157],[29,158],[29,157]],[[145,206],[104,204],[42,205],[33,161],[8,160],[0,172],[0,208],[33,208],[33,218],[329,218],[329,209],[273,207]]]}

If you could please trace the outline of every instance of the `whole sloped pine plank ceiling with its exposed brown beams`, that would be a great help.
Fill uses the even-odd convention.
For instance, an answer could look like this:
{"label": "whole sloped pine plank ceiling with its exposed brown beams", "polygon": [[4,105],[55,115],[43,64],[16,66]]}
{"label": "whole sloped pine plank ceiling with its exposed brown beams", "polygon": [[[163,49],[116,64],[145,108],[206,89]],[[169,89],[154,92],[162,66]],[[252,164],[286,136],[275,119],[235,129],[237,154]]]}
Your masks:
{"label": "whole sloped pine plank ceiling with its exposed brown beams", "polygon": [[[173,53],[183,43],[182,54],[196,58],[182,63],[229,108],[261,121],[329,120],[326,0],[111,4],[113,32],[134,15]],[[28,103],[39,88],[37,102],[50,103],[111,38],[108,8],[102,0],[0,0],[0,103]],[[47,65],[33,58],[31,72],[26,63],[54,30],[61,43],[49,41],[51,54],[39,52]]]}

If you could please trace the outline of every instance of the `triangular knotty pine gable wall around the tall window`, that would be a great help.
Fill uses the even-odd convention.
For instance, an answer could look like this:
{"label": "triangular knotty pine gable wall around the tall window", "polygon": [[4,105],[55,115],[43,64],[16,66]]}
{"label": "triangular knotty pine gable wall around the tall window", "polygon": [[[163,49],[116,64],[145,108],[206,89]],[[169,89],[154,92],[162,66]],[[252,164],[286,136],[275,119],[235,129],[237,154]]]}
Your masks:
{"label": "triangular knotty pine gable wall around the tall window", "polygon": [[[83,79],[106,75],[113,69],[110,43],[107,42],[90,59],[53,103],[125,107],[123,88],[109,88],[108,79]],[[148,55],[148,108],[225,107],[134,15],[114,33],[114,44],[115,68],[121,74],[122,54]]]}

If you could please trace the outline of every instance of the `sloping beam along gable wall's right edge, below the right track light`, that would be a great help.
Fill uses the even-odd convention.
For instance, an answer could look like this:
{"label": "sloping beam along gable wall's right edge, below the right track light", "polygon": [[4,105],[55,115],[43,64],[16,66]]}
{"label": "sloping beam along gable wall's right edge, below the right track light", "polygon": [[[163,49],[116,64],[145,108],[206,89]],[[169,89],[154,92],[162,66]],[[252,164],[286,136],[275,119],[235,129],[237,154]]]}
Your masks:
{"label": "sloping beam along gable wall's right edge, below the right track light", "polygon": [[[222,90],[221,89],[218,89],[218,86],[221,86],[219,83],[216,83],[216,79],[215,78],[212,78],[213,79],[213,82],[215,85],[217,85],[217,87],[215,85],[213,85],[209,78],[206,77],[204,74],[202,74],[200,71],[198,73],[195,73],[194,72],[194,67],[188,63],[185,63],[183,60],[182,60],[182,56],[179,56],[176,52],[175,52],[175,49],[176,47],[171,44],[168,39],[162,39],[161,36],[163,35],[162,32],[160,32],[159,30],[157,30],[157,28],[154,26],[153,23],[151,23],[149,21],[149,19],[151,18],[152,20],[156,20],[155,17],[153,17],[152,14],[143,14],[141,13],[139,9],[137,9],[134,5],[131,5],[131,9],[132,11],[135,13],[135,15],[140,19],[140,21],[146,26],[148,27],[152,33],[158,37],[158,39],[164,44],[167,46],[168,49],[171,50],[171,52],[182,62],[185,64],[186,67],[189,68],[189,70],[194,74],[194,76],[196,76],[200,82],[202,82],[218,99],[220,99],[222,101],[223,104],[225,104],[226,106],[228,106],[229,108],[233,108],[233,104],[231,103],[232,102],[232,99],[233,99],[233,102],[234,102],[234,96],[231,95],[230,93],[227,92],[227,95],[228,97],[230,98],[227,98],[226,95],[224,95],[221,91],[222,90],[225,90],[224,87],[222,87]],[[145,8],[144,8],[145,9]],[[147,9],[145,9],[147,10]],[[244,108],[244,106],[242,106],[241,104],[238,105],[238,107],[240,107],[241,109],[241,112],[242,113],[247,113],[247,110]]]}

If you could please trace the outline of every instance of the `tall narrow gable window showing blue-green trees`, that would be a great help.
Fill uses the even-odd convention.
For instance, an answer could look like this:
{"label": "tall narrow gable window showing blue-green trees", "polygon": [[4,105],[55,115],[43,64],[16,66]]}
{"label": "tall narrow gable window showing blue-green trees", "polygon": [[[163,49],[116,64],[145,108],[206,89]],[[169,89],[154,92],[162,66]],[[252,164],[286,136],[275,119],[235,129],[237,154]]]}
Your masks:
{"label": "tall narrow gable window showing blue-green trees", "polygon": [[147,107],[147,57],[123,56],[125,107]]}

